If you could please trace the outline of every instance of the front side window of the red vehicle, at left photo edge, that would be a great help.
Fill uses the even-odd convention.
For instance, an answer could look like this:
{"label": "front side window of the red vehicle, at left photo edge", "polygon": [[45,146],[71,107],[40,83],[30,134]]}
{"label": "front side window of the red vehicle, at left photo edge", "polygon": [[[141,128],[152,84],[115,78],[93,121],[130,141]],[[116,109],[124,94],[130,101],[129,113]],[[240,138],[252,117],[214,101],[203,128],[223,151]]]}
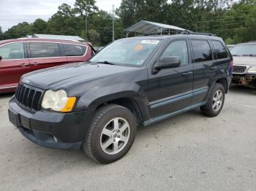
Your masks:
{"label": "front side window of the red vehicle, at left photo edge", "polygon": [[25,58],[23,42],[7,44],[0,47],[0,55],[2,56],[3,60]]}

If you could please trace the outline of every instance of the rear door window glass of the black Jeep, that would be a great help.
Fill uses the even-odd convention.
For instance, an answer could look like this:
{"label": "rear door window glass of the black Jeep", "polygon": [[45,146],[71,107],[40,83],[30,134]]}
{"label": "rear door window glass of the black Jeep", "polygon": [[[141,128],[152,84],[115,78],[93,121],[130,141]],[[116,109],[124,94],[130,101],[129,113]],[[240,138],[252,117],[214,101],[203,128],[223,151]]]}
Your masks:
{"label": "rear door window glass of the black Jeep", "polygon": [[194,62],[212,60],[211,47],[206,40],[191,40],[194,53]]}

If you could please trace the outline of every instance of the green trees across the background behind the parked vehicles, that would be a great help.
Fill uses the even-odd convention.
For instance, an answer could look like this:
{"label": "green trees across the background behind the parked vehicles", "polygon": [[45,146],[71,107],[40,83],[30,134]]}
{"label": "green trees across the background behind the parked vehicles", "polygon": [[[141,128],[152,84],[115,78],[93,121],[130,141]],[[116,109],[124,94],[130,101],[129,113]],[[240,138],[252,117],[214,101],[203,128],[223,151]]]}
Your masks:
{"label": "green trees across the background behind the parked vehicles", "polygon": [[[76,0],[74,8],[61,4],[48,21],[19,23],[5,32],[0,27],[0,40],[28,34],[61,34],[78,35],[104,46],[112,41],[112,14],[99,10],[95,2]],[[116,15],[115,39],[125,37],[124,28],[150,20],[211,32],[228,44],[256,40],[256,0],[122,0]]]}

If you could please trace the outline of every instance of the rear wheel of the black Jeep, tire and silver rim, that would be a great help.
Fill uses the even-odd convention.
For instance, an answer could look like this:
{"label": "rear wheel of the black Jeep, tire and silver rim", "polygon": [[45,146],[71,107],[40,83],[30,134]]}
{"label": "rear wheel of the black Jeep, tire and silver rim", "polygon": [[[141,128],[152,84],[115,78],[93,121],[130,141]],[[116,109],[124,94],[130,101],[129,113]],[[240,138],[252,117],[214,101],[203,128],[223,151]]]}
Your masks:
{"label": "rear wheel of the black Jeep, tire and silver rim", "polygon": [[217,83],[209,95],[205,105],[200,106],[201,112],[208,117],[215,117],[221,111],[225,101],[225,89],[223,85]]}

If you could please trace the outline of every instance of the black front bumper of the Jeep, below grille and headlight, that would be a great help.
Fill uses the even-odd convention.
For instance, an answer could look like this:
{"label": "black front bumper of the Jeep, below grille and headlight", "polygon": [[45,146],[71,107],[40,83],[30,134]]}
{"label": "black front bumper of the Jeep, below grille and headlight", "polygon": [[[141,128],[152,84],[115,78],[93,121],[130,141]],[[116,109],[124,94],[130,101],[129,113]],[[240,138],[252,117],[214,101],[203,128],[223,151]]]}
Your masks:
{"label": "black front bumper of the Jeep, below grille and headlight", "polygon": [[79,149],[94,111],[31,113],[16,104],[9,104],[9,119],[27,139],[42,147]]}

